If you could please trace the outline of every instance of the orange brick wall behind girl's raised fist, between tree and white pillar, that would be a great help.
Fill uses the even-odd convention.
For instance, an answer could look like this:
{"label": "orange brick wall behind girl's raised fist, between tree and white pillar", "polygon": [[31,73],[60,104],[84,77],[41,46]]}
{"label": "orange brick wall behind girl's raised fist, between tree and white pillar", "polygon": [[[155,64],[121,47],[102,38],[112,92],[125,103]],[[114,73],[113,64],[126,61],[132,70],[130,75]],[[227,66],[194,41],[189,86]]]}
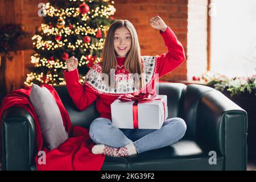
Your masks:
{"label": "orange brick wall behind girl's raised fist, between tree and white pillar", "polygon": [[[188,0],[115,0],[115,18],[128,19],[139,37],[142,55],[167,52],[162,36],[150,26],[150,19],[159,15],[175,32],[187,52]],[[186,80],[187,65],[183,63],[160,80]]]}

